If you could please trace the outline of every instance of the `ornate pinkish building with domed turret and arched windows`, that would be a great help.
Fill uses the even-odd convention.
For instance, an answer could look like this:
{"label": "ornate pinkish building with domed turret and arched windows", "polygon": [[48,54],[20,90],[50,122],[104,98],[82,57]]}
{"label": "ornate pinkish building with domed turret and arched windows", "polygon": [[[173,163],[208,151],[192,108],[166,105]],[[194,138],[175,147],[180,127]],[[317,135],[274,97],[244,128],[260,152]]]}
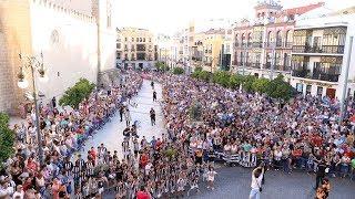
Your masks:
{"label": "ornate pinkish building with domed turret and arched windows", "polygon": [[283,9],[280,3],[260,1],[255,19],[243,19],[234,28],[232,69],[241,74],[290,80],[293,28],[296,18],[324,3]]}

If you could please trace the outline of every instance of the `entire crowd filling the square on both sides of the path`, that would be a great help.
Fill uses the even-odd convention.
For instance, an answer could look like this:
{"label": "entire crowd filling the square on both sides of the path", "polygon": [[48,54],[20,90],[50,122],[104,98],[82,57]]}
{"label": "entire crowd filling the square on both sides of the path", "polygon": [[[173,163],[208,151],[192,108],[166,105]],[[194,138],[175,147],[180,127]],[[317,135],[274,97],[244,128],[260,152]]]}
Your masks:
{"label": "entire crowd filling the square on both sides of the path", "polygon": [[[146,140],[131,124],[129,98],[138,93],[142,77],[130,73],[123,84],[104,94],[94,92],[78,109],[41,106],[43,166],[37,159],[34,113],[28,123],[17,125],[17,154],[1,171],[0,193],[90,198],[106,189],[115,198],[183,197],[200,191],[201,180],[214,189],[215,153],[253,155],[257,165],[263,163],[262,170],[253,171],[253,197],[261,191],[260,176],[268,169],[316,172],[320,198],[328,196],[326,177],[355,177],[354,124],[338,123],[337,101],[305,96],[280,103],[189,76],[154,76],[162,84],[166,134]],[[158,103],[154,83],[151,86]],[[354,105],[349,101],[347,118],[355,114]],[[102,144],[88,151],[87,160],[79,156],[71,161],[71,154],[116,109],[126,123],[123,159]],[[148,115],[155,125],[155,111]]]}

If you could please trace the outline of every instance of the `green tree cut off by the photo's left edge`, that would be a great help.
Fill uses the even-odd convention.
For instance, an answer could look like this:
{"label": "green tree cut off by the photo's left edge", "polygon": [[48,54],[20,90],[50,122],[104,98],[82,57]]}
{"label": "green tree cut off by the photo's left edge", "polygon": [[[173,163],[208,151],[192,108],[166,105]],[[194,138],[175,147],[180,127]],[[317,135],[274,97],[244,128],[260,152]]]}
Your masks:
{"label": "green tree cut off by the photo's left edge", "polygon": [[8,114],[0,113],[0,168],[14,153],[14,132],[9,128],[9,121]]}

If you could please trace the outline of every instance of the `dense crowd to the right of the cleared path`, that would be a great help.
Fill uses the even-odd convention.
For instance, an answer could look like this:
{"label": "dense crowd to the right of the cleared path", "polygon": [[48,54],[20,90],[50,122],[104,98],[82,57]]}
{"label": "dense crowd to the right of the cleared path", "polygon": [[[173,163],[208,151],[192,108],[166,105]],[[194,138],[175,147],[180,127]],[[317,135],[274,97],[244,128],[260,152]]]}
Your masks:
{"label": "dense crowd to the right of the cleared path", "polygon": [[[291,174],[318,172],[315,189],[325,176],[355,175],[354,103],[339,121],[339,102],[326,97],[296,97],[281,104],[265,95],[231,91],[186,76],[162,77],[166,128],[173,139],[190,147],[195,158],[210,154],[254,155],[265,168]],[[201,112],[193,118],[192,107]]]}

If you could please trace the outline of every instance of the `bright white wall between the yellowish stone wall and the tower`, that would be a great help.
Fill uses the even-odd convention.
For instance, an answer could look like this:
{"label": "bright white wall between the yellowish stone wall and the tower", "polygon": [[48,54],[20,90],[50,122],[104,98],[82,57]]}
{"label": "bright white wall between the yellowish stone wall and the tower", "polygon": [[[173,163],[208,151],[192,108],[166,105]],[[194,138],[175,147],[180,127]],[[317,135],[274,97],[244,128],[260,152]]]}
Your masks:
{"label": "bright white wall between the yellowish stone wall and the tower", "polygon": [[[90,18],[31,3],[33,55],[43,52],[49,83],[38,82],[45,98],[60,96],[80,77],[97,82],[97,25]],[[114,42],[113,42],[114,45]]]}

